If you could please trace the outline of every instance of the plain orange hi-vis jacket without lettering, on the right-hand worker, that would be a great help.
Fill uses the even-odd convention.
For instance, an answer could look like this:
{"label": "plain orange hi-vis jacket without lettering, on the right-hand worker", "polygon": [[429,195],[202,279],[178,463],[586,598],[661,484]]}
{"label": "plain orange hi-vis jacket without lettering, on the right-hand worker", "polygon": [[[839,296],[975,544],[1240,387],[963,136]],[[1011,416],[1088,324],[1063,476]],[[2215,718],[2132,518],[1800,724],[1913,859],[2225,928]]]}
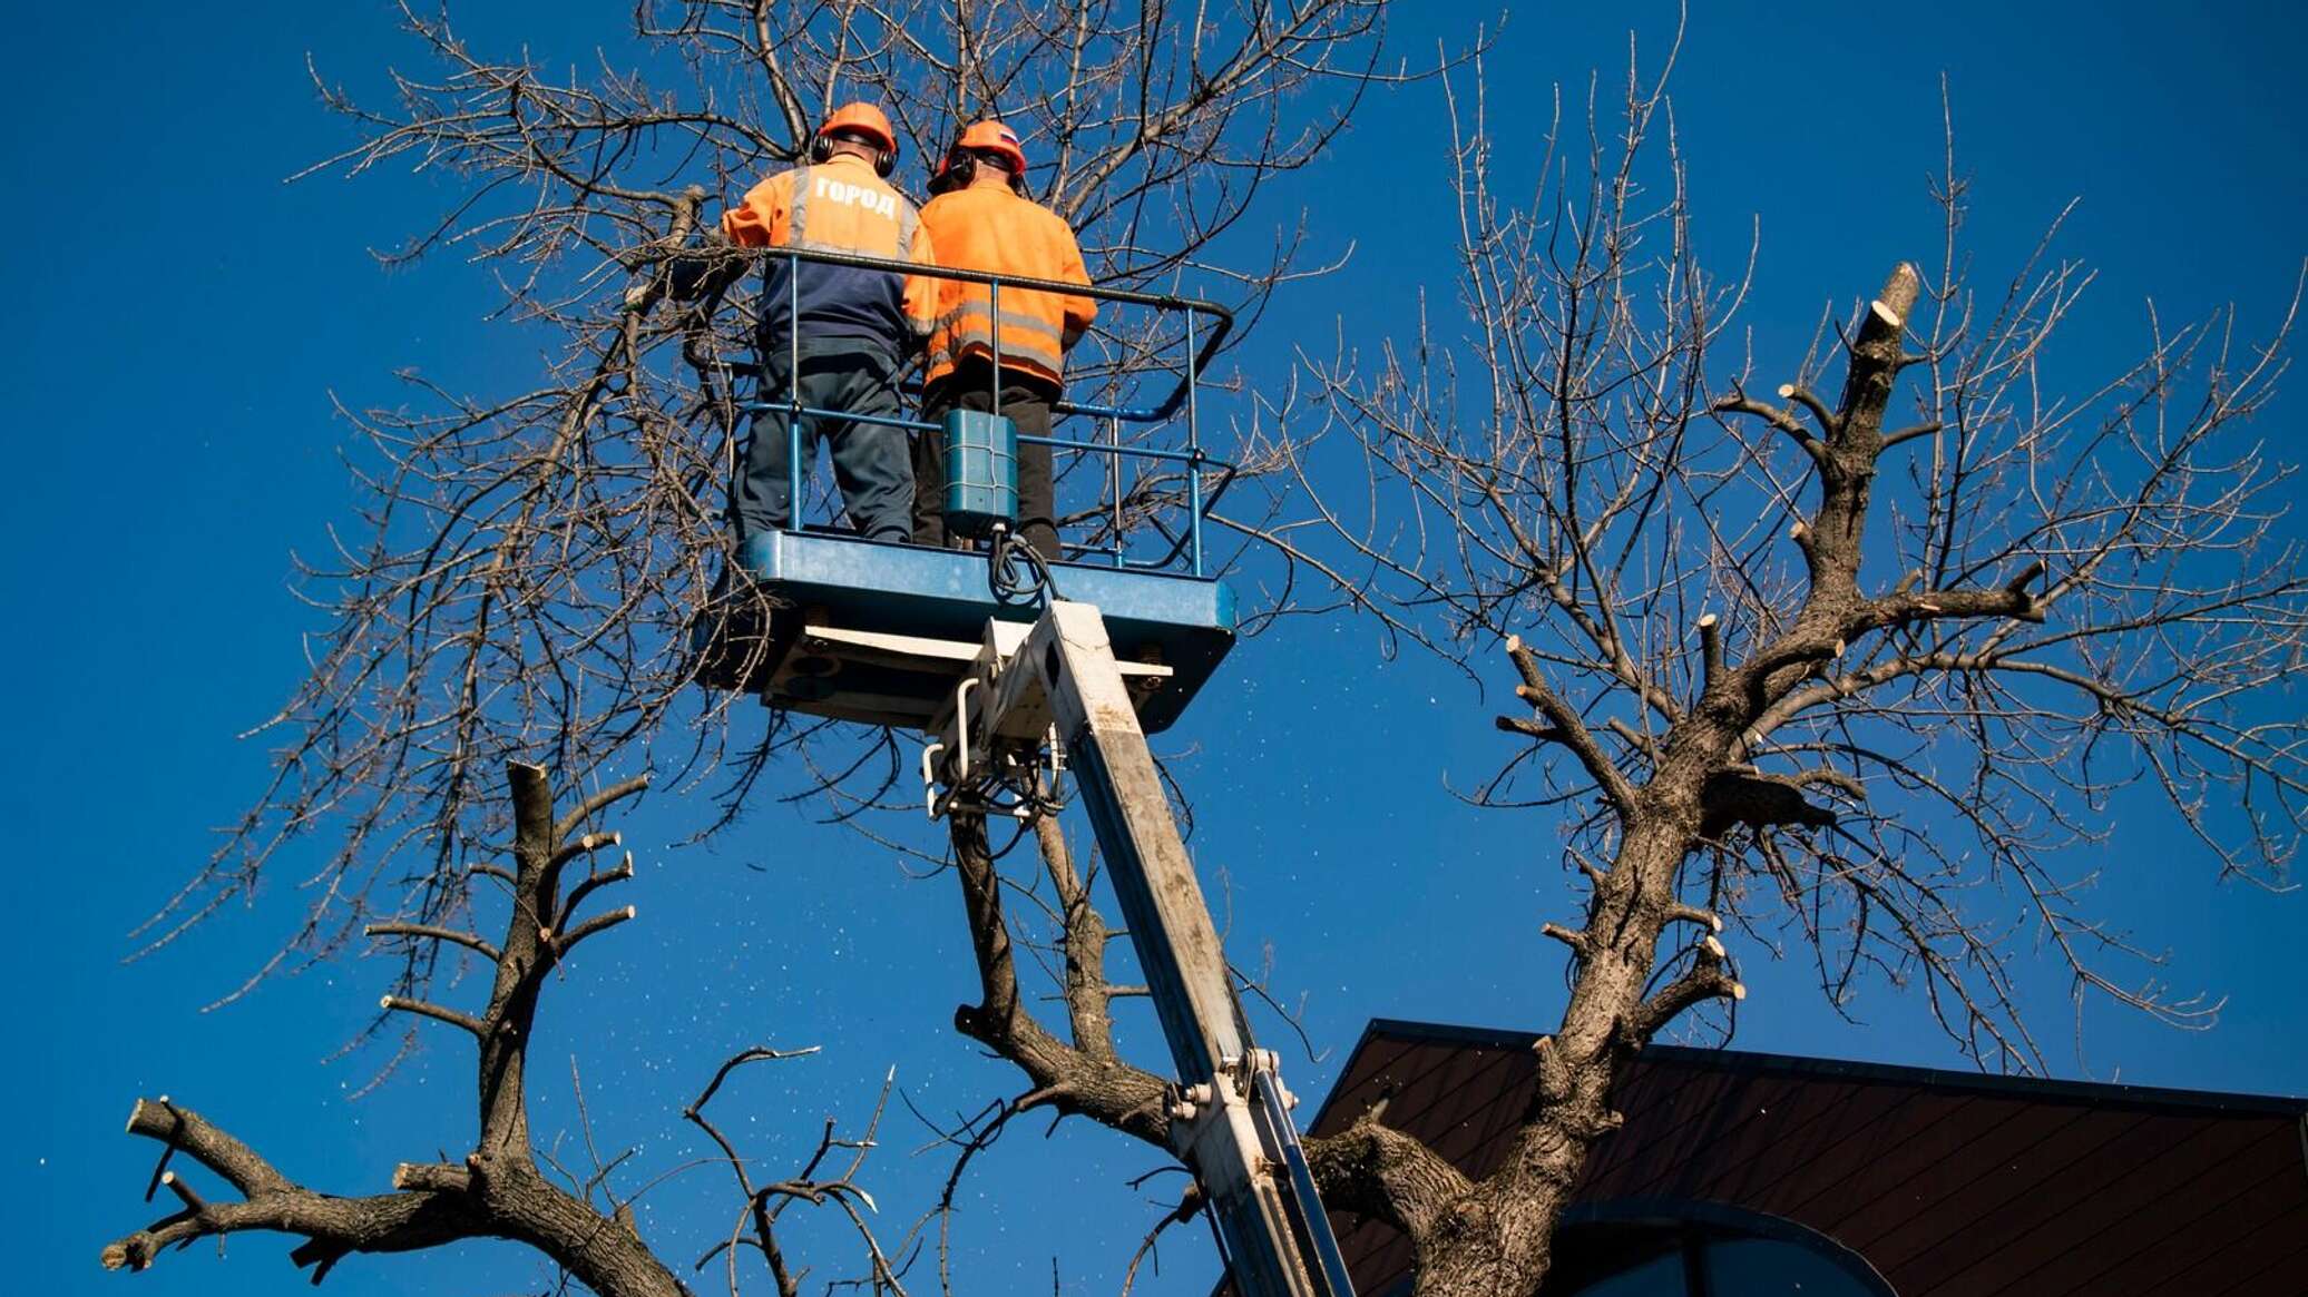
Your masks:
{"label": "plain orange hi-vis jacket without lettering, on the right-hand worker", "polygon": [[[997,185],[939,194],[921,208],[921,226],[937,242],[939,265],[1089,284],[1082,249],[1057,212]],[[1050,383],[1066,378],[1066,332],[1099,318],[1099,302],[1073,293],[1002,286],[1002,367]],[[937,282],[937,323],[930,330],[928,383],[969,355],[992,358],[992,291],[986,284]]]}

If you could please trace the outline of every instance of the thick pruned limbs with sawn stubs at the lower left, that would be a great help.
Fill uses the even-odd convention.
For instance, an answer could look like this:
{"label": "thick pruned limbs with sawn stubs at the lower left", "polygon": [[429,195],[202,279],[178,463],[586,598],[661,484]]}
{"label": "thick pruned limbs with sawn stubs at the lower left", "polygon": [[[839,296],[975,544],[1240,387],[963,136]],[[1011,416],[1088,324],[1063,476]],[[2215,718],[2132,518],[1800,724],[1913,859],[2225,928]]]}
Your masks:
{"label": "thick pruned limbs with sawn stubs at the lower left", "polygon": [[[422,1251],[462,1239],[512,1239],[552,1260],[563,1276],[602,1297],[672,1297],[688,1292],[674,1272],[651,1253],[635,1228],[632,1202],[639,1193],[619,1195],[612,1172],[621,1159],[593,1165],[586,1175],[561,1168],[549,1152],[535,1147],[529,1133],[529,1048],[535,1039],[538,999],[554,972],[582,942],[635,916],[632,907],[582,914],[586,900],[632,877],[632,854],[600,868],[593,859],[619,847],[616,833],[593,831],[593,822],[616,801],[646,787],[644,778],[625,780],[582,799],[554,815],[554,794],[540,766],[510,764],[512,849],[510,868],[475,863],[471,875],[503,889],[503,937],[489,942],[480,932],[429,923],[372,923],[369,937],[381,942],[427,942],[455,946],[494,965],[489,1002],[480,1013],[388,995],[388,1013],[406,1013],[452,1027],[473,1039],[478,1052],[475,1108],[478,1122],[464,1161],[409,1161],[392,1170],[392,1193],[342,1198],[307,1189],[282,1175],[263,1154],[247,1147],[215,1122],[168,1099],[138,1099],[129,1112],[129,1133],[162,1145],[159,1165],[145,1189],[150,1200],[162,1186],[178,1209],[125,1235],[104,1249],[108,1269],[145,1269],[175,1246],[205,1237],[238,1232],[295,1235],[305,1242],[288,1253],[300,1269],[312,1267],[312,1281],[353,1253]],[[575,868],[584,872],[575,875]],[[563,886],[568,882],[568,886]],[[729,1292],[739,1288],[739,1251],[759,1253],[780,1297],[801,1292],[799,1272],[778,1244],[778,1216],[792,1202],[810,1202],[842,1212],[856,1228],[865,1265],[852,1279],[868,1292],[905,1292],[900,1267],[882,1251],[865,1216],[859,1212],[856,1184],[865,1149],[863,1140],[838,1140],[833,1122],[817,1152],[792,1177],[755,1184],[748,1163],[722,1131],[706,1117],[732,1071],[752,1062],[785,1059],[812,1050],[780,1052],[748,1048],[715,1069],[711,1082],[683,1112],[720,1149],[741,1191],[736,1225],[729,1242],[706,1253],[704,1267],[727,1253]],[[882,1092],[889,1101],[889,1089]],[[879,1122],[879,1103],[875,1122]],[[591,1145],[591,1131],[586,1131]],[[205,1175],[175,1170],[175,1154],[198,1163]],[[833,1172],[826,1163],[838,1161]],[[210,1200],[201,1179],[215,1177],[238,1200]]]}

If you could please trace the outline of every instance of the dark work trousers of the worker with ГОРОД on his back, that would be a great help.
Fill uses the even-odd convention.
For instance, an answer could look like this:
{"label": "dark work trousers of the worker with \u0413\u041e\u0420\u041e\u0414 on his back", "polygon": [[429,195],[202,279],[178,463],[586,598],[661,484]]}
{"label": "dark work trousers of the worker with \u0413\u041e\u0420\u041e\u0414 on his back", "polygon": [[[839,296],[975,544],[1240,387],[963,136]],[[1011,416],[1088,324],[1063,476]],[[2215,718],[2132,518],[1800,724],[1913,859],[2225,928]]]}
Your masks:
{"label": "dark work trousers of the worker with \u0413\u041e\u0420\u041e\u0414 on his back", "polygon": [[[762,360],[762,402],[785,404],[792,360],[778,351]],[[898,399],[898,358],[886,346],[856,339],[824,339],[801,353],[801,404],[852,415],[905,418]],[[792,526],[794,501],[787,475],[792,438],[782,408],[752,415],[752,432],[729,485],[729,526],[743,554],[745,538]],[[907,538],[907,505],[914,498],[912,452],[902,427],[847,418],[801,418],[801,480],[817,464],[817,441],[833,448],[833,480],[842,489],[849,526],[872,540]]]}

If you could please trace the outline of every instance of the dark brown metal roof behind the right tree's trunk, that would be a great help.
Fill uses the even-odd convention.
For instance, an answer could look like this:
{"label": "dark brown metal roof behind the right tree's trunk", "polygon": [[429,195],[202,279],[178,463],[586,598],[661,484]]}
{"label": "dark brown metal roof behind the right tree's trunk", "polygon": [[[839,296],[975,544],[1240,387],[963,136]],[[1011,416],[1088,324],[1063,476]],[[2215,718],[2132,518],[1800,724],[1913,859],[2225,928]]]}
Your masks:
{"label": "dark brown metal roof behind the right tree's trunk", "polygon": [[[1313,1122],[1385,1122],[1486,1175],[1535,1036],[1378,1020]],[[1653,1045],[1579,1202],[1759,1212],[1856,1251],[1899,1297],[2301,1297],[2308,1101]],[[1332,1223],[1366,1297],[1408,1276],[1387,1225]]]}

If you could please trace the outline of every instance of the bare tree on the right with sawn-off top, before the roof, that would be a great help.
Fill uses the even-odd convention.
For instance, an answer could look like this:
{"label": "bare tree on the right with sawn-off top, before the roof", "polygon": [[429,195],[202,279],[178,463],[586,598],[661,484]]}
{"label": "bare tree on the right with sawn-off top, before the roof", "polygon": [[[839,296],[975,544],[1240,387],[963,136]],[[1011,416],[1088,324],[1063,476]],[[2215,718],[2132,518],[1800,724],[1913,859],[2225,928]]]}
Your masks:
{"label": "bare tree on the right with sawn-off top, before the roof", "polygon": [[1498,653],[1526,748],[1475,796],[1569,824],[1586,905],[1544,928],[1569,997],[1498,1170],[1380,1112],[1313,1145],[1334,1209],[1408,1235],[1422,1297],[1539,1283],[1623,1064],[1745,997],[1736,949],[1793,932],[1837,1011],[1881,974],[1983,1066],[2040,1069],[2029,944],[2080,1013],[2216,1009],[2082,905],[2063,849],[2119,833],[2119,796],[2163,794],[2206,882],[2278,884],[2299,847],[2308,732],[2278,688],[2308,568],[2292,471],[2248,429],[2292,314],[2246,344],[2232,312],[2151,312],[2144,355],[2054,388],[2091,272],[2047,235],[2001,295],[1966,284],[1950,127],[1936,270],[1899,263],[1766,369],[1736,355],[1747,277],[1692,252],[1666,113],[1664,76],[1629,72],[1616,120],[1590,92],[1514,203],[1521,141],[1454,102],[1449,323],[1306,358],[1292,492],[1237,519],[1399,644],[1477,681]]}

